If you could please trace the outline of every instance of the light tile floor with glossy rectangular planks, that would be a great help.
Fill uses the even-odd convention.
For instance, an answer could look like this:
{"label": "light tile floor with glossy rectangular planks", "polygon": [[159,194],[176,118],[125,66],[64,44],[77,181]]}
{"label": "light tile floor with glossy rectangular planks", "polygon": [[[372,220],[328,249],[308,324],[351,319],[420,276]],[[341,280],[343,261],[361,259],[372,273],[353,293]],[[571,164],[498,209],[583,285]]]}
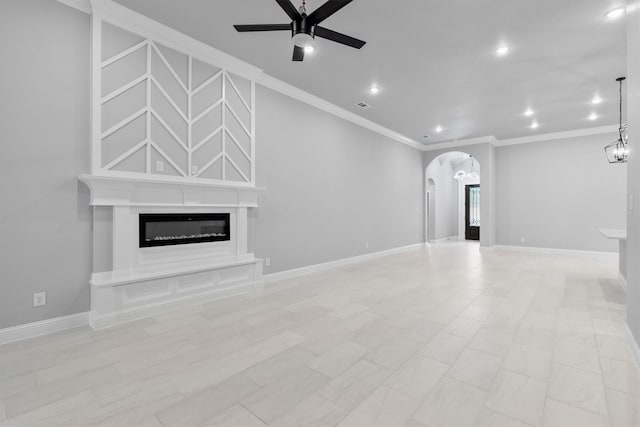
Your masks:
{"label": "light tile floor with glossy rectangular planks", "polygon": [[612,257],[466,242],[0,347],[1,426],[640,426]]}

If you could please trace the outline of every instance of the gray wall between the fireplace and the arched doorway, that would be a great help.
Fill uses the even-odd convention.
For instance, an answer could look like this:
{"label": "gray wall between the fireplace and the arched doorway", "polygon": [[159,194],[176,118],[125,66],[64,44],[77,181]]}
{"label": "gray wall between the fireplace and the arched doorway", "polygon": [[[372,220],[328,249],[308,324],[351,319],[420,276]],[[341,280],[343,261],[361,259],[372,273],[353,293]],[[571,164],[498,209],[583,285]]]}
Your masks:
{"label": "gray wall between the fireplace and the arched doorway", "polygon": [[265,273],[422,241],[421,152],[263,87],[256,102]]}

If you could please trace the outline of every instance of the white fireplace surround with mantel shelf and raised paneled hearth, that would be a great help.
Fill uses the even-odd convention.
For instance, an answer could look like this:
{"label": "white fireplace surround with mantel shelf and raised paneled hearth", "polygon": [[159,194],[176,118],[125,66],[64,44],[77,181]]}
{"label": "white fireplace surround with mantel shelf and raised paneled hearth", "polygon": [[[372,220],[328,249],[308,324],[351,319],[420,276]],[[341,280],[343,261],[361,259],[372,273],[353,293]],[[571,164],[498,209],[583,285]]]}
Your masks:
{"label": "white fireplace surround with mantel shelf and raised paneled hearth", "polygon": [[[262,260],[248,250],[247,211],[264,189],[155,176],[78,179],[91,190],[91,205],[111,213],[109,232],[94,232],[94,247],[112,252],[111,269],[94,271],[89,282],[94,329],[262,289]],[[231,237],[140,247],[142,213],[229,213]]]}

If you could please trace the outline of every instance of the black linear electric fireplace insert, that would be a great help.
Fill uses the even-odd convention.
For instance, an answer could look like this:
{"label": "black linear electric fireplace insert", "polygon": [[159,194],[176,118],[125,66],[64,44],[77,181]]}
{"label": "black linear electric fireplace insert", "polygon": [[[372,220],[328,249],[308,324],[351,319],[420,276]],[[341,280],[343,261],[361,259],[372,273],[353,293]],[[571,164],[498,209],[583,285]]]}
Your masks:
{"label": "black linear electric fireplace insert", "polygon": [[228,213],[140,214],[140,247],[230,240]]}

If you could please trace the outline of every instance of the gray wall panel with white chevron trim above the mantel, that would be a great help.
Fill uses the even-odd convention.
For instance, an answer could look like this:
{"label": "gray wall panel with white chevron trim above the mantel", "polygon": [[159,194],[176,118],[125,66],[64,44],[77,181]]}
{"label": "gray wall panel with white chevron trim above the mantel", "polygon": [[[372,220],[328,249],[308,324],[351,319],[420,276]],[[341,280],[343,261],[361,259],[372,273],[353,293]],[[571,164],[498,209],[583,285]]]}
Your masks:
{"label": "gray wall panel with white chevron trim above the mantel", "polygon": [[255,184],[255,82],[109,23],[101,29],[95,172]]}

